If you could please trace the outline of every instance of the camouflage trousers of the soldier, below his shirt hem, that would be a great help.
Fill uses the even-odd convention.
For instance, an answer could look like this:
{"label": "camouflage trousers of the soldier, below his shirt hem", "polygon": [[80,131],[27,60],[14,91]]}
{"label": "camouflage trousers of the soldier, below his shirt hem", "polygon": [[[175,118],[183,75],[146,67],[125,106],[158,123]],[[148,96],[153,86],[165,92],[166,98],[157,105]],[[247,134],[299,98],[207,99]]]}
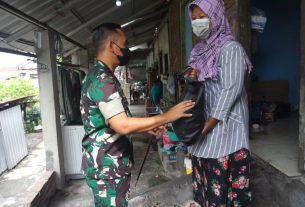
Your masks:
{"label": "camouflage trousers of the soldier, below his shirt hem", "polygon": [[127,207],[129,200],[130,176],[113,180],[96,180],[86,176],[94,195],[96,207]]}

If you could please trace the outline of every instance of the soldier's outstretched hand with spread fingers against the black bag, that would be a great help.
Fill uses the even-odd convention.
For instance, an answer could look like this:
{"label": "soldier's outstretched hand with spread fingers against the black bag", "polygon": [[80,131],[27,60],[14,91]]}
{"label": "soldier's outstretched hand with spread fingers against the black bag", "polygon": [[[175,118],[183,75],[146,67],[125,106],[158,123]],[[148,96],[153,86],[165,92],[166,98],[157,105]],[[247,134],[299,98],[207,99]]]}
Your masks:
{"label": "soldier's outstretched hand with spread fingers against the black bag", "polygon": [[168,123],[176,121],[180,118],[191,117],[192,114],[185,113],[195,106],[193,101],[182,101],[176,106],[172,107],[169,111],[163,114],[166,117]]}

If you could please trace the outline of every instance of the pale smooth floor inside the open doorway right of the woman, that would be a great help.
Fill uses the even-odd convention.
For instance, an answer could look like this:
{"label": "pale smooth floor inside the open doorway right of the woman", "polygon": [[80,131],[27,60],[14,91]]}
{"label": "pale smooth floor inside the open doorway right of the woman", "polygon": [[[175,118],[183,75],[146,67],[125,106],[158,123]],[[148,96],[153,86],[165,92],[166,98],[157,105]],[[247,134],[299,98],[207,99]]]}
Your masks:
{"label": "pale smooth floor inside the open doorway right of the woman", "polygon": [[298,170],[298,118],[278,119],[262,132],[252,133],[250,145],[254,154],[290,177]]}

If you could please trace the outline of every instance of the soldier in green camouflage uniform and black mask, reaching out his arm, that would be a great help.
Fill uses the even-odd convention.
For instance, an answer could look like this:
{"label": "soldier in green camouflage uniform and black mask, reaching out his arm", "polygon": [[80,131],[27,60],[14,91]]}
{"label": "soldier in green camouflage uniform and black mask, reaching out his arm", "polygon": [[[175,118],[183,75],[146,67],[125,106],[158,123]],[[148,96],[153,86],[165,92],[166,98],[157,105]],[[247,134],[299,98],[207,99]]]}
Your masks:
{"label": "soldier in green camouflage uniform and black mask, reaching out his arm", "polygon": [[129,59],[126,36],[119,25],[106,23],[94,30],[95,67],[82,85],[81,114],[86,136],[82,141],[82,172],[94,194],[95,206],[126,207],[132,166],[130,133],[150,132],[181,117],[193,107],[183,102],[150,118],[127,116],[126,98],[113,75]]}

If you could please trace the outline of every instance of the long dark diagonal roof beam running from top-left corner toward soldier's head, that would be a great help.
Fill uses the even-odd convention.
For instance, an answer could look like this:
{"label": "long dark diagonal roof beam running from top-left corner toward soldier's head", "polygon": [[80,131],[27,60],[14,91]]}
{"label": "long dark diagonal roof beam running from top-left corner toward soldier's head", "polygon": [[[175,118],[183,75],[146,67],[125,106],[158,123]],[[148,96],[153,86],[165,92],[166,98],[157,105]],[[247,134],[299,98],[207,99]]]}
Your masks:
{"label": "long dark diagonal roof beam running from top-left corner toward soldier's head", "polygon": [[79,42],[76,42],[75,40],[67,37],[66,35],[56,31],[55,29],[53,29],[52,27],[50,27],[49,25],[43,23],[43,22],[40,22],[39,20],[23,13],[22,11],[16,9],[15,7],[12,7],[11,5],[7,4],[6,2],[0,0],[0,9],[3,9],[4,11],[22,19],[23,21],[26,21],[26,22],[29,22],[33,25],[36,25],[37,27],[40,27],[42,29],[46,29],[46,30],[51,30],[51,31],[54,31],[58,34],[60,34],[62,37],[64,37],[67,41],[73,43],[74,45],[78,46],[78,47],[81,47],[83,49],[86,49],[85,46],[83,46],[82,44],[80,44]]}

